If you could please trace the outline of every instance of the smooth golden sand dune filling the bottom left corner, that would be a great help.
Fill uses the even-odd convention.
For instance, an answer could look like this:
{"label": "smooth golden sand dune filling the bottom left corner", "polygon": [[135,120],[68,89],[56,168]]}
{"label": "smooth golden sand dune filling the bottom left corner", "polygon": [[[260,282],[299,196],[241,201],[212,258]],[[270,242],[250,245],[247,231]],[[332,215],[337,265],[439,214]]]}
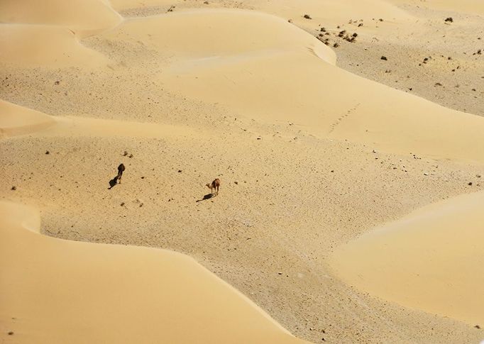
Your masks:
{"label": "smooth golden sand dune filling the bottom left corner", "polygon": [[304,343],[185,255],[44,237],[35,209],[5,201],[0,214],[16,343]]}

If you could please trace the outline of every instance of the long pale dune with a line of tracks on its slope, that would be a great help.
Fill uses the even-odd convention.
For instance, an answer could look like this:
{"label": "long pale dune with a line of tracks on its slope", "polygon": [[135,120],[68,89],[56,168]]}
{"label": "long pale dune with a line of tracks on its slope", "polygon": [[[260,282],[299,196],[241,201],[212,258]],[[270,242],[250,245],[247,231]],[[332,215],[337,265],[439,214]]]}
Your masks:
{"label": "long pale dune with a line of tracks on its slope", "polygon": [[168,89],[258,121],[294,122],[320,137],[398,154],[483,161],[481,118],[345,72],[323,43],[272,16],[182,11],[127,21],[101,36],[168,50],[168,69],[158,74]]}

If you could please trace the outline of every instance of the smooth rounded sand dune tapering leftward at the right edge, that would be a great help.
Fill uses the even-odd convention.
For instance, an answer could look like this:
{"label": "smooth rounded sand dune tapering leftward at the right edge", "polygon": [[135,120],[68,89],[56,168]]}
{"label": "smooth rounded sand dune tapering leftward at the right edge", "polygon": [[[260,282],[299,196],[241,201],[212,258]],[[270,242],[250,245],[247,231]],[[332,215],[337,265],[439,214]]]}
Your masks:
{"label": "smooth rounded sand dune tapering leftward at the right edge", "polygon": [[348,283],[412,308],[484,323],[483,192],[426,206],[336,251]]}

